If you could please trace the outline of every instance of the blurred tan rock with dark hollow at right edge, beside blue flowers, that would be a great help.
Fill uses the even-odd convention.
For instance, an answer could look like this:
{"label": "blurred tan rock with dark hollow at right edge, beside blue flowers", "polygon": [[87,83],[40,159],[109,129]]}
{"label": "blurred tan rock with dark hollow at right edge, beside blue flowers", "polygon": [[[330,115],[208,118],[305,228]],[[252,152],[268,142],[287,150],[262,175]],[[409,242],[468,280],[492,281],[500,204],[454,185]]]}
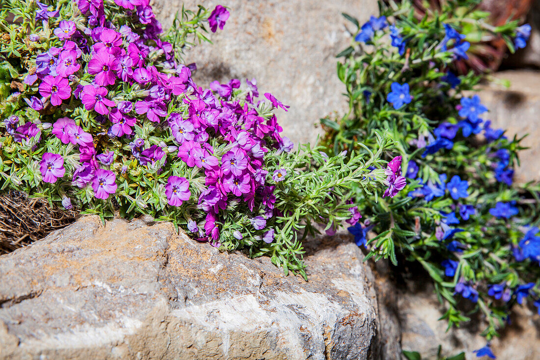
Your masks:
{"label": "blurred tan rock with dark hollow at right edge, beside blue flowers", "polygon": [[497,79],[510,81],[510,88],[495,82],[490,83],[481,92],[482,102],[490,110],[487,118],[494,127],[507,129],[507,136],[519,137],[529,134],[522,144],[529,149],[519,152],[521,166],[517,169],[515,180],[525,183],[540,179],[540,72],[502,71],[495,75]]}

